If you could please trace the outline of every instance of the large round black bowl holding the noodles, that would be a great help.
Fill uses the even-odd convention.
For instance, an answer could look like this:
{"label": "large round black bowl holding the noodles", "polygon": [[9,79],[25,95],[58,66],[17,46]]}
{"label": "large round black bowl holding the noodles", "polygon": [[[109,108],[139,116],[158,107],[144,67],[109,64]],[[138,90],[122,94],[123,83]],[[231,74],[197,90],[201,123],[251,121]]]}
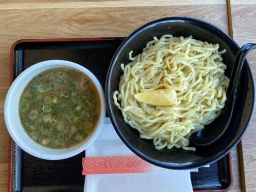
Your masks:
{"label": "large round black bowl holding the noodles", "polygon": [[[121,111],[114,105],[113,92],[118,90],[120,77],[123,74],[120,64],[130,62],[129,51],[132,50],[132,55],[137,55],[154,36],[160,37],[163,34],[184,37],[192,35],[194,39],[213,44],[219,43],[220,50],[227,50],[222,56],[223,62],[227,65],[225,75],[230,77],[239,46],[221,29],[207,22],[187,17],[156,20],[131,33],[113,56],[105,86],[108,114],[119,137],[130,150],[142,159],[154,165],[171,169],[189,169],[208,165],[226,155],[239,142],[248,126],[255,98],[252,71],[246,61],[236,98],[239,102],[236,102],[230,126],[218,142],[207,147],[196,147],[195,152],[176,148],[156,150],[152,140],[140,138],[138,131],[123,120]],[[193,145],[191,144],[191,146]]]}

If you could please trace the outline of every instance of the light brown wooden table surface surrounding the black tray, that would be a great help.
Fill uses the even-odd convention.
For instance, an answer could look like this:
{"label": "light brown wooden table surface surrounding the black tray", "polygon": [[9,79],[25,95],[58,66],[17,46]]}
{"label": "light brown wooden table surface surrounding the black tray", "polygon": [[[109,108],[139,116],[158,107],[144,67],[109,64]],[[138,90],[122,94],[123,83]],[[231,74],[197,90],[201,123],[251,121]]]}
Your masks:
{"label": "light brown wooden table surface surrounding the black tray", "polygon": [[[231,0],[233,36],[242,46],[256,42],[256,0]],[[226,0],[0,0],[0,192],[7,191],[8,132],[3,118],[13,42],[33,38],[127,36],[141,25],[168,16],[206,20],[228,33]],[[248,55],[256,75],[256,51]],[[248,192],[256,192],[256,113],[243,138]],[[240,192],[236,148],[233,187]]]}

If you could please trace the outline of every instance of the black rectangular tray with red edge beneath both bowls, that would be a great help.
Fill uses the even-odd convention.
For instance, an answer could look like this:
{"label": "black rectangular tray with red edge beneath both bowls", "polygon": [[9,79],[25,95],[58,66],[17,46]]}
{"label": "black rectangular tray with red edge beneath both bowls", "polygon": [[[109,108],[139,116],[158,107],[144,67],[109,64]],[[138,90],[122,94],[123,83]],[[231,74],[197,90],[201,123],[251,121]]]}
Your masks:
{"label": "black rectangular tray with red edge beneath both bowls", "polygon": [[[104,87],[111,57],[124,38],[21,40],[14,44],[13,79],[34,63],[64,59],[79,63],[92,71]],[[35,158],[11,145],[10,188],[14,192],[83,192],[82,157],[48,161]],[[209,167],[191,172],[194,191],[228,190],[232,183],[230,155]]]}

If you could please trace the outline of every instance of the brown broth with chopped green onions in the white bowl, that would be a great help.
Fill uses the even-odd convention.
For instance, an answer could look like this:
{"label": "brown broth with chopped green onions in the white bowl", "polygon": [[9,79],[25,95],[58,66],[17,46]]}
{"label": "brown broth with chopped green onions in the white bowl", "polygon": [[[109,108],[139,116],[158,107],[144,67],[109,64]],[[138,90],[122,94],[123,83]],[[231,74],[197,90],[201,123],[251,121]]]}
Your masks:
{"label": "brown broth with chopped green onions in the white bowl", "polygon": [[35,142],[69,148],[94,132],[99,107],[96,87],[86,75],[71,68],[54,68],[28,83],[20,98],[19,114]]}

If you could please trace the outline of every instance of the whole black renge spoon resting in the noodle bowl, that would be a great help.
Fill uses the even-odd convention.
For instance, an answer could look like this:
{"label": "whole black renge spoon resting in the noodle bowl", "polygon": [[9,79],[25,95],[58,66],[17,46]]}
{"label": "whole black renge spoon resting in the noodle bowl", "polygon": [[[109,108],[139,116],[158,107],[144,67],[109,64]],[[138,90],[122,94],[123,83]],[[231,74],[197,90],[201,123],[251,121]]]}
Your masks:
{"label": "whole black renge spoon resting in the noodle bowl", "polygon": [[224,135],[233,114],[238,82],[246,55],[253,49],[256,49],[256,44],[247,43],[238,51],[226,92],[225,106],[213,122],[191,135],[190,139],[196,146],[213,144]]}

